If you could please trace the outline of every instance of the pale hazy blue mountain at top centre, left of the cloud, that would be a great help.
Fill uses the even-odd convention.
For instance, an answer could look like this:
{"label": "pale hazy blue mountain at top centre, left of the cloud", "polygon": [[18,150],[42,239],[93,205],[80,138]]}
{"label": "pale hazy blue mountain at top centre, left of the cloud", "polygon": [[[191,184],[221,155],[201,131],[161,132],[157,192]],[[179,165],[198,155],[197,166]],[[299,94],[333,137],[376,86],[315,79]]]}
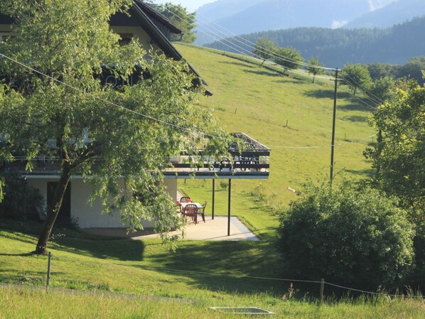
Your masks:
{"label": "pale hazy blue mountain at top centre, left of the cloud", "polygon": [[213,40],[215,35],[205,35],[208,29],[219,33],[213,23],[236,34],[301,26],[338,28],[392,1],[395,0],[219,0],[198,9],[195,43]]}

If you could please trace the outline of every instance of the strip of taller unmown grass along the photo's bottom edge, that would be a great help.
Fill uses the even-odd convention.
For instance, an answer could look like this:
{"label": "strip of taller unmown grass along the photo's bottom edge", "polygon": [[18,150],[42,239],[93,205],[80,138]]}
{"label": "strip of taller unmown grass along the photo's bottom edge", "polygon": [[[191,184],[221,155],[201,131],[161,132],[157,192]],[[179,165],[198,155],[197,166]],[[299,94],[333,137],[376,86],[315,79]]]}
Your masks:
{"label": "strip of taller unmown grass along the photo's bottom edge", "polygon": [[[0,319],[14,318],[245,318],[243,315],[223,314],[209,309],[210,306],[256,306],[274,313],[271,318],[423,318],[424,303],[412,300],[343,301],[340,303],[317,303],[281,301],[267,296],[232,296],[231,299],[205,298],[169,300],[135,296],[107,296],[67,291],[33,290],[0,286]],[[249,318],[264,318],[253,315]]]}

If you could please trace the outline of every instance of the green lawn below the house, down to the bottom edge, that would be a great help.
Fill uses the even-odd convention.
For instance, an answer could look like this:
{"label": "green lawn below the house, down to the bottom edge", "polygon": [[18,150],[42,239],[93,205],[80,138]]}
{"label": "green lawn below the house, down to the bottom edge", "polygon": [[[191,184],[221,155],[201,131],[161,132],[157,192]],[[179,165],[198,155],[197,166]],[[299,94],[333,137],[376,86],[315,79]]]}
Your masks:
{"label": "green lawn below the house, down to the bottom edge", "polygon": [[[330,297],[318,306],[313,297],[318,284],[303,287],[310,291],[304,296],[300,284],[294,283],[296,298],[282,299],[289,281],[245,277],[283,275],[281,260],[267,238],[185,241],[173,253],[157,239],[108,239],[57,229],[49,249],[50,291],[45,293],[47,257],[28,254],[36,245],[32,232],[37,229],[16,225],[21,230],[12,231],[4,226],[0,223],[1,319],[235,318],[212,312],[210,306],[260,307],[274,312],[274,318],[419,319],[424,310],[421,300],[387,297],[338,303]],[[326,293],[331,294],[328,286]]]}

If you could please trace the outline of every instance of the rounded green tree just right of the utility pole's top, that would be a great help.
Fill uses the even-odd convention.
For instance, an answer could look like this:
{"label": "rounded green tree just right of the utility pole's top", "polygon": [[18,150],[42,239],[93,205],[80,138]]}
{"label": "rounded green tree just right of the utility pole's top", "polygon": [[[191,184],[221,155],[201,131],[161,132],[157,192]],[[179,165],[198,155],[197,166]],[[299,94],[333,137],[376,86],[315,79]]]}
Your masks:
{"label": "rounded green tree just right of the utility pole's top", "polygon": [[357,90],[369,90],[370,85],[372,85],[372,79],[366,65],[348,63],[344,65],[341,77],[343,81],[340,83],[348,85],[354,95]]}

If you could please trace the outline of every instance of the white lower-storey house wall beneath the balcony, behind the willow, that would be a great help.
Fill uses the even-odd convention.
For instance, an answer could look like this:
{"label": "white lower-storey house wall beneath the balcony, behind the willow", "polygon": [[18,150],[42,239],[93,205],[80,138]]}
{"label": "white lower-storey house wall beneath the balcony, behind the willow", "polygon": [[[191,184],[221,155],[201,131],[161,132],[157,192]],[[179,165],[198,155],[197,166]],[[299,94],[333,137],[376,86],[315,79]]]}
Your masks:
{"label": "white lower-storey house wall beneath the balcony, behind the willow", "polygon": [[[27,178],[28,184],[31,187],[36,188],[40,191],[44,198],[46,205],[47,201],[47,183],[58,182],[58,178],[43,178],[43,177],[31,177]],[[177,200],[177,180],[165,180],[164,184],[168,193],[171,195],[174,201]],[[103,205],[102,200],[97,198],[95,201],[90,203],[89,197],[92,193],[92,185],[88,182],[84,182],[82,178],[72,178],[70,181],[71,185],[71,207],[70,215],[71,218],[77,220],[80,228],[119,228],[125,227],[122,224],[121,216],[119,212],[114,212],[112,215],[102,214]],[[46,207],[44,207],[46,209]],[[149,220],[145,220],[142,225],[145,228],[154,226],[154,223]]]}

